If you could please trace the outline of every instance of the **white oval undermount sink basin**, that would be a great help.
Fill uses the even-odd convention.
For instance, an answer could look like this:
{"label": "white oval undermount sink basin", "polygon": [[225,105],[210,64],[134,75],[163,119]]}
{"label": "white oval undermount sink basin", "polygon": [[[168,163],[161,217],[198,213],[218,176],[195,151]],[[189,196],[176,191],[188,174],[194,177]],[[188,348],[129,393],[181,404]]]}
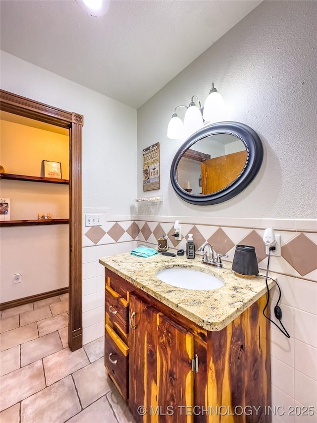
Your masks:
{"label": "white oval undermount sink basin", "polygon": [[209,273],[181,267],[160,270],[157,277],[173,287],[199,291],[212,290],[224,285],[224,282]]}

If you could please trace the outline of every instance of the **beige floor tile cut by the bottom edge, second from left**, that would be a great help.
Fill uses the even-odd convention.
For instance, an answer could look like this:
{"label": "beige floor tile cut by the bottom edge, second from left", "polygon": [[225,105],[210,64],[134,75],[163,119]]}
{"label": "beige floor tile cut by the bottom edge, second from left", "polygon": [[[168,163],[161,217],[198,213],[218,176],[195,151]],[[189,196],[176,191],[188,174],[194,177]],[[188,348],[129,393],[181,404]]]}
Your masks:
{"label": "beige floor tile cut by the bottom edge, second from left", "polygon": [[81,410],[71,376],[21,403],[21,423],[65,422]]}

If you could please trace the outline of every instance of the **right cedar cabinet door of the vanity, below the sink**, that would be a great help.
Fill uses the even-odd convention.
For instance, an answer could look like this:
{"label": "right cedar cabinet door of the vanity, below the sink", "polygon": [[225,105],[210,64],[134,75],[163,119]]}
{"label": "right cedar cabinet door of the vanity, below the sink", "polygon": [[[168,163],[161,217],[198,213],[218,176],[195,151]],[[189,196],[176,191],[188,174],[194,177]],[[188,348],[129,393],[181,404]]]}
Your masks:
{"label": "right cedar cabinet door of the vanity, below the sink", "polygon": [[[193,422],[194,336],[162,313],[158,314],[158,404],[159,422]],[[189,407],[186,411],[185,407]],[[174,414],[170,415],[169,410]]]}

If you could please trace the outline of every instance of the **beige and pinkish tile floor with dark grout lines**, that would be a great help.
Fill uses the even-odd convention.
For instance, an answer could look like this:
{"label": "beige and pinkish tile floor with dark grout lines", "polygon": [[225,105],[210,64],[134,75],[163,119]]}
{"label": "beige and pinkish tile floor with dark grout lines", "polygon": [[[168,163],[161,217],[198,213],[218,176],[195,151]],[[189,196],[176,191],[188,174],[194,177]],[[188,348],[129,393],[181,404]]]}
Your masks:
{"label": "beige and pinkish tile floor with dark grout lines", "polygon": [[106,374],[104,338],[67,346],[68,295],[3,310],[1,423],[134,423]]}

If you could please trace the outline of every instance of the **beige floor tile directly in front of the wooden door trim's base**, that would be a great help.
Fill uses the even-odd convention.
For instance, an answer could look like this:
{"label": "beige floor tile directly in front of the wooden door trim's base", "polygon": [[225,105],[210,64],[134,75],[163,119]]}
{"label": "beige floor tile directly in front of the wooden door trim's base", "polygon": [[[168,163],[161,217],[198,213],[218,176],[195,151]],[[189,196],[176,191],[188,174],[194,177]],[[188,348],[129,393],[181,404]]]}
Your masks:
{"label": "beige floor tile directly in front of the wooden door trim's base", "polygon": [[46,383],[49,386],[68,374],[86,366],[89,364],[89,360],[82,348],[74,352],[71,352],[69,348],[65,348],[49,357],[45,357],[43,364]]}

